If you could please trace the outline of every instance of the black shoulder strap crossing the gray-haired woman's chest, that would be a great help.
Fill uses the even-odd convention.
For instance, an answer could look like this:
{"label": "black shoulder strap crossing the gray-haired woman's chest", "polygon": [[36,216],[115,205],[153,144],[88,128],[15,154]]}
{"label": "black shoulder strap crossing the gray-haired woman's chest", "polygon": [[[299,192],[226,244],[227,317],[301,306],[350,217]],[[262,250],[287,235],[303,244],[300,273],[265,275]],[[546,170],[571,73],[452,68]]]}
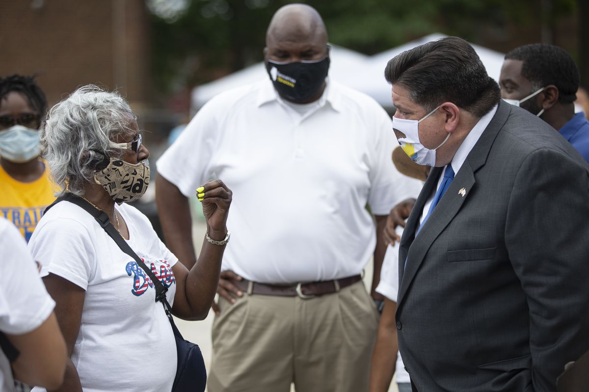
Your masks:
{"label": "black shoulder strap crossing the gray-haired woman's chest", "polygon": [[[141,260],[139,256],[137,256],[137,253],[133,252],[133,249],[131,249],[129,244],[125,242],[121,234],[117,232],[117,229],[115,229],[114,226],[111,225],[107,213],[105,213],[102,210],[96,209],[95,207],[91,206],[90,203],[88,203],[86,200],[70,192],[66,193],[64,196],[58,197],[55,200],[55,202],[47,206],[47,208],[45,209],[45,213],[47,213],[47,211],[52,206],[64,200],[70,203],[74,203],[75,205],[81,207],[90,215],[92,215],[94,219],[96,219],[96,222],[98,222],[98,225],[100,225],[102,229],[104,229],[104,231],[107,232],[107,234],[114,240],[114,242],[117,243],[118,247],[120,247],[123,252],[133,257],[135,262],[137,262],[137,264],[141,267],[141,269],[144,270],[147,276],[150,277],[151,282],[153,282],[155,286],[155,301],[161,301],[162,303],[165,303],[164,309],[166,308],[166,306],[168,307],[168,309],[170,309],[170,304],[168,304],[168,301],[166,299],[166,292],[168,291],[168,288],[164,286],[164,284],[161,283],[159,279],[157,279],[157,277],[151,271],[151,269],[145,265],[143,260]],[[168,309],[166,309],[166,313],[168,313]]]}

